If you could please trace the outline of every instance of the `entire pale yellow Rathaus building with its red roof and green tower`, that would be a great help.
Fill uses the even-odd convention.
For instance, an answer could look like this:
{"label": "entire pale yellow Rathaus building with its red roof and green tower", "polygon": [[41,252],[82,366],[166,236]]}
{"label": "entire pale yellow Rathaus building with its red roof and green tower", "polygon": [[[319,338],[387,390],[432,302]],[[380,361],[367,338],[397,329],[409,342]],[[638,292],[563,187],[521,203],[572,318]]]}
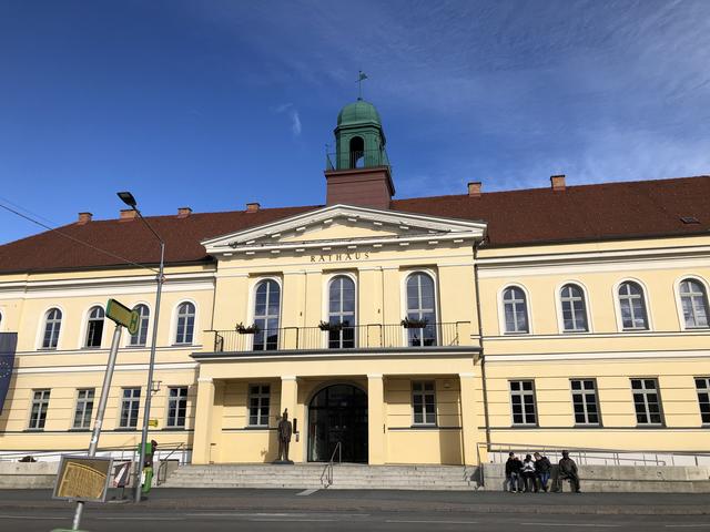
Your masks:
{"label": "entire pale yellow Rathaus building with its red roof and green tower", "polygon": [[193,463],[275,460],[286,409],[296,462],[707,451],[710,178],[392,200],[367,105],[338,117],[326,205],[149,218],[168,249],[158,324],[130,213],[62,231],[145,267],[52,234],[0,247],[0,332],[19,338],[0,452],[88,446],[108,298],[141,328],[122,334],[105,452],[140,441],[155,326],[150,438]]}

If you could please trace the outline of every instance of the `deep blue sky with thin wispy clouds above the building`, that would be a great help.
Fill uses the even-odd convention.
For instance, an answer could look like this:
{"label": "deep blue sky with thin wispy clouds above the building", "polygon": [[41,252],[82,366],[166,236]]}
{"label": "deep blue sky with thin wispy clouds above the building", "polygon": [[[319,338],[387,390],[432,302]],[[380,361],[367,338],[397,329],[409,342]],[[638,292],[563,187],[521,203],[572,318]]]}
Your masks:
{"label": "deep blue sky with thin wispy clouds above the building", "polygon": [[703,0],[0,0],[0,201],[321,204],[361,69],[397,197],[708,174],[709,64]]}

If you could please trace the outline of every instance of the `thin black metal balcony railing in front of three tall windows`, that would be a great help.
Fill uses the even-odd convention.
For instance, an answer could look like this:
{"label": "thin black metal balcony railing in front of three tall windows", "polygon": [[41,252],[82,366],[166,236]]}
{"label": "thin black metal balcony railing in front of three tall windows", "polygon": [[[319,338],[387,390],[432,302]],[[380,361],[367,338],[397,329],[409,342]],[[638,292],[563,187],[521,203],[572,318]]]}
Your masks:
{"label": "thin black metal balcony railing in front of three tall windows", "polygon": [[427,324],[404,327],[402,324],[354,326],[283,327],[254,331],[212,330],[215,352],[324,350],[324,349],[420,349],[457,347],[470,344],[470,321]]}

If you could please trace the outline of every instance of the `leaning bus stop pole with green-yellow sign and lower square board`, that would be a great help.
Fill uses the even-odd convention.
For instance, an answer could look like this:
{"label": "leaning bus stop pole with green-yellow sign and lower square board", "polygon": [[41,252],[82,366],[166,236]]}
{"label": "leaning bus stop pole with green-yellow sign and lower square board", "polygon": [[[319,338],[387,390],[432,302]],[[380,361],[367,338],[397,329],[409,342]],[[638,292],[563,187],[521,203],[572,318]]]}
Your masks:
{"label": "leaning bus stop pole with green-yellow sign and lower square board", "polygon": [[[113,369],[115,368],[115,358],[119,352],[119,342],[121,341],[121,331],[122,331],[121,327],[128,328],[129,332],[131,332],[132,335],[138,332],[138,328],[139,328],[138,311],[131,310],[126,306],[121,305],[115,299],[109,299],[109,303],[106,305],[106,317],[115,321],[115,329],[113,330],[113,339],[111,341],[111,351],[109,352],[106,372],[103,376],[103,385],[101,387],[101,398],[99,399],[97,419],[93,422],[93,432],[91,434],[91,442],[89,443],[89,453],[88,453],[88,457],[83,457],[85,461],[90,462],[90,466],[91,464],[95,466],[95,463],[100,461],[94,457],[97,456],[97,448],[99,447],[99,437],[101,436],[101,426],[103,424],[103,416],[106,410],[106,402],[109,400],[109,389],[111,388],[111,379],[113,378]],[[79,460],[79,457],[73,457],[72,460],[77,461]],[[106,472],[104,494],[103,494],[104,498],[105,498],[105,487],[108,487],[108,483],[109,483],[108,477],[110,475],[109,473],[111,472],[111,461],[109,461],[108,463],[109,464],[106,470],[108,472]],[[93,485],[94,491],[92,493],[83,493],[83,494],[80,488],[82,485],[82,482],[71,482],[71,479],[79,478],[81,475],[83,477],[89,475],[91,478],[94,478],[95,480],[95,478],[98,478],[97,477],[98,473],[95,471],[93,471],[92,473],[91,471],[89,471],[90,468],[89,469],[88,468],[89,466],[84,463],[74,463],[68,459],[68,466],[65,468],[67,471],[69,471],[68,473],[69,477],[67,478],[70,479],[70,484],[68,485],[71,485],[73,490],[71,499],[77,501],[77,511],[74,512],[74,521],[72,523],[71,530],[79,530],[79,524],[81,523],[81,514],[84,509],[84,502],[87,500],[95,499],[95,497],[93,495],[95,495],[95,485],[98,484],[98,482],[93,482],[93,483],[87,482],[85,485],[88,487]],[[58,485],[63,485],[63,482],[62,484],[60,484],[60,480],[61,479],[58,478]]]}

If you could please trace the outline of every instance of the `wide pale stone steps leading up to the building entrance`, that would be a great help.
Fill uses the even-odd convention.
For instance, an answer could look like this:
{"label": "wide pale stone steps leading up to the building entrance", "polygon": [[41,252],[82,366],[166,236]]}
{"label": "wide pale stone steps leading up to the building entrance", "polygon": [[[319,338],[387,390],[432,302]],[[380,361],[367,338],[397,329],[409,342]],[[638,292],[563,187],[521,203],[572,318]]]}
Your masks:
{"label": "wide pale stone steps leading up to the building entrance", "polygon": [[[161,488],[274,488],[331,490],[473,490],[463,466],[333,466],[324,463],[183,466]],[[469,468],[470,469],[470,468]],[[468,474],[467,474],[468,473]]]}

